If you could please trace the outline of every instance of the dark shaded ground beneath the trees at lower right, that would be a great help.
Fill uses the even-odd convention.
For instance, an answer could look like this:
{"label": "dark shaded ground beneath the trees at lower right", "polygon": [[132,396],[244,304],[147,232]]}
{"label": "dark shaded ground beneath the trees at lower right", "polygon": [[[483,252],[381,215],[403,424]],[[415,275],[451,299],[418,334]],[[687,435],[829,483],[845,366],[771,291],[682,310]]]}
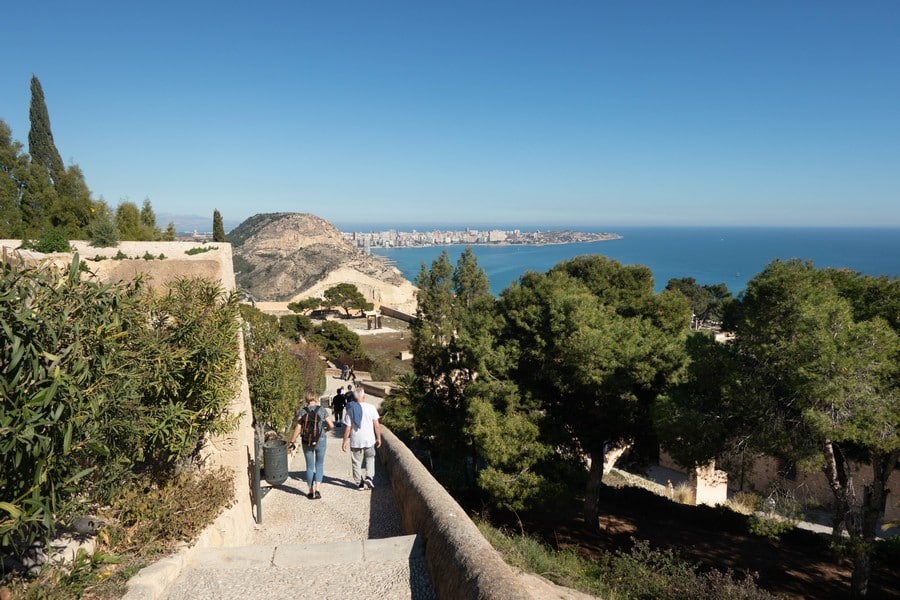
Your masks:
{"label": "dark shaded ground beneath the trees at lower right", "polygon": [[[747,517],[725,508],[687,506],[638,488],[604,488],[600,531],[586,527],[580,499],[553,511],[525,513],[525,530],[554,548],[591,557],[627,551],[633,539],[671,549],[701,569],[759,574],[760,587],[785,598],[841,598],[851,565],[829,547],[830,536],[795,529],[772,541],[748,533]],[[511,526],[518,529],[514,522]],[[900,570],[876,560],[870,598],[900,599]]]}

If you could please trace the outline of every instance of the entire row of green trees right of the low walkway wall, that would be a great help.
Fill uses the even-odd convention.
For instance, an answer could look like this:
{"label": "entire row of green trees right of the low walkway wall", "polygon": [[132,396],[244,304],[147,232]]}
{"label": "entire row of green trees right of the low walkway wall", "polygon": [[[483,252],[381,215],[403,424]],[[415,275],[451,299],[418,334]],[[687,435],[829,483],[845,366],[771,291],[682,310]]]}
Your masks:
{"label": "entire row of green trees right of the low walkway wall", "polygon": [[[825,474],[865,593],[900,458],[896,279],[775,261],[737,299],[693,279],[657,294],[645,267],[585,256],[495,300],[466,251],[423,265],[416,284],[414,375],[384,420],[457,495],[520,510],[586,479],[596,523],[613,451],[652,458],[662,442],[685,466],[766,453]],[[734,339],[691,333],[698,319]],[[860,463],[871,480],[854,480]]]}

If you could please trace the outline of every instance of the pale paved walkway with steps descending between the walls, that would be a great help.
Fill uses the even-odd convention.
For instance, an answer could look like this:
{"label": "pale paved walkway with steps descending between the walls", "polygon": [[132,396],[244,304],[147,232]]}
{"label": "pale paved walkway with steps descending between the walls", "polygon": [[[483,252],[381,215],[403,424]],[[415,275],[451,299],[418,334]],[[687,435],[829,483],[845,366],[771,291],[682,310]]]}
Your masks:
{"label": "pale paved walkway with steps descending between the walls", "polygon": [[[343,383],[329,377],[327,393]],[[322,498],[306,497],[306,461],[298,450],[289,457],[287,481],[263,498],[262,523],[248,545],[204,552],[164,598],[434,598],[422,540],[403,535],[381,464],[375,489],[360,491],[350,454],[341,451],[341,429],[326,435]]]}

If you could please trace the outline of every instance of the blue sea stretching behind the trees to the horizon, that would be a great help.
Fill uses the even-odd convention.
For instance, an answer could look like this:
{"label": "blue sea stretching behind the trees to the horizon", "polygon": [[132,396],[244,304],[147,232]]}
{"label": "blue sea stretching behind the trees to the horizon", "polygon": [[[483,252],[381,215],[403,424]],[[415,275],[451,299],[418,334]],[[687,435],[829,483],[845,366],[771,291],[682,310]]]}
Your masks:
{"label": "blue sea stretching behind the trees to the horizon", "polygon": [[[900,275],[900,229],[896,228],[610,227],[596,231],[618,233],[622,239],[547,246],[476,245],[472,249],[494,295],[526,271],[547,271],[560,261],[584,254],[649,267],[657,291],[672,278],[693,277],[702,285],[724,283],[737,295],[776,258],[811,260],[816,267],[847,268],[868,275]],[[456,264],[465,246],[373,248],[372,253],[388,258],[414,281],[422,263],[430,266],[444,250]]]}

